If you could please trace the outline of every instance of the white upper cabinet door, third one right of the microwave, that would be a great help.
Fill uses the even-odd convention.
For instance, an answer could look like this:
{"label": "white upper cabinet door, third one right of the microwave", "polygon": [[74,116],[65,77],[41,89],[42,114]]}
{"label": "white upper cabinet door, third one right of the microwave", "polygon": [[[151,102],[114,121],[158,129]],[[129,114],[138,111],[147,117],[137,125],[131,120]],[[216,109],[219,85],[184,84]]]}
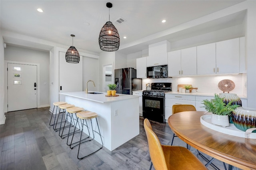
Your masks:
{"label": "white upper cabinet door, third one right of the microwave", "polygon": [[216,43],[197,46],[197,75],[216,74]]}

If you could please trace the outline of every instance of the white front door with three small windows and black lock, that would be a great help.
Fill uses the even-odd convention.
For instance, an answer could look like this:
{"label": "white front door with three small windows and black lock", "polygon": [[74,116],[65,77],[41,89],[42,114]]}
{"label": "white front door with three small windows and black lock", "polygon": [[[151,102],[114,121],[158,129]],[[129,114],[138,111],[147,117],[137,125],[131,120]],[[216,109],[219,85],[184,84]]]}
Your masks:
{"label": "white front door with three small windows and black lock", "polygon": [[8,63],[8,111],[37,108],[37,66]]}

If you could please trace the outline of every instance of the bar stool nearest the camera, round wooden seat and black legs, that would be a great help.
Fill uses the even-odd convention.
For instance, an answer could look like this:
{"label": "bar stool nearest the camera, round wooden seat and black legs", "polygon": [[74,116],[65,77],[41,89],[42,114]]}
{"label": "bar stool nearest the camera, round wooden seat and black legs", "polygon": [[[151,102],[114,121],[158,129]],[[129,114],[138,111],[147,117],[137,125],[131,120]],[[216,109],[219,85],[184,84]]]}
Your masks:
{"label": "bar stool nearest the camera, round wooden seat and black legs", "polygon": [[[77,158],[78,158],[78,159],[83,159],[83,158],[86,158],[86,157],[88,157],[88,156],[90,156],[90,155],[92,155],[92,154],[98,152],[100,149],[102,149],[102,148],[103,148],[103,141],[102,141],[102,137],[101,137],[101,135],[100,135],[100,128],[99,128],[98,120],[97,120],[97,117],[98,117],[98,114],[97,114],[97,113],[94,113],[94,112],[92,112],[92,111],[82,111],[82,112],[77,113],[76,116],[81,119],[81,124],[82,124],[82,130],[81,130],[81,135],[80,135],[80,141],[79,141],[79,144],[78,144],[79,147],[78,147]],[[84,130],[84,125],[85,125],[85,124],[84,124],[84,120],[86,121],[87,119],[90,119],[90,120],[91,120],[91,126],[92,126],[92,119],[93,119],[93,118],[96,119],[96,123],[97,123],[99,132],[94,131],[94,130],[93,130],[93,127],[92,127],[93,138],[84,141],[85,139],[88,138],[88,137],[86,137],[85,139],[81,140],[81,139],[82,139],[82,133],[83,133],[83,130]],[[83,120],[83,121],[82,121],[82,120]],[[85,125],[85,126],[87,126],[87,122],[86,122],[86,125]],[[87,126],[87,128],[88,128],[88,126]],[[88,131],[89,131],[89,129],[88,129]],[[98,149],[98,150],[92,152],[91,154],[88,154],[88,155],[86,155],[86,156],[83,156],[83,157],[80,157],[80,158],[79,158],[79,151],[80,151],[80,145],[81,145],[81,143],[88,142],[88,141],[92,141],[92,140],[94,139],[94,137],[95,137],[95,133],[94,133],[94,132],[95,132],[95,133],[98,133],[98,134],[100,135],[100,139],[101,139],[102,146],[100,147],[100,149]],[[74,133],[73,133],[73,136],[74,136]],[[90,137],[90,136],[89,136],[89,137]],[[81,142],[81,141],[83,141],[83,142]],[[76,146],[77,146],[77,145],[76,145]],[[75,147],[75,146],[74,146],[74,147]],[[74,148],[74,147],[72,147],[72,148]]]}

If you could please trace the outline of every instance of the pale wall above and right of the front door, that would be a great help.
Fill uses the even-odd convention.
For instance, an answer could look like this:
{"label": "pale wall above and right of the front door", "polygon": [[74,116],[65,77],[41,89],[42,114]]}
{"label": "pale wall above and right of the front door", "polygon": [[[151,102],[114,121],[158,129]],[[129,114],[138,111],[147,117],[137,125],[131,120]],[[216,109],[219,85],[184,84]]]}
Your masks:
{"label": "pale wall above and right of the front door", "polygon": [[[50,106],[49,51],[38,51],[33,49],[25,49],[22,47],[14,47],[7,45],[6,49],[4,50],[4,59],[7,61],[40,64],[40,84],[38,84],[40,86],[40,103],[38,104],[38,107]],[[7,98],[5,100],[7,100]]]}

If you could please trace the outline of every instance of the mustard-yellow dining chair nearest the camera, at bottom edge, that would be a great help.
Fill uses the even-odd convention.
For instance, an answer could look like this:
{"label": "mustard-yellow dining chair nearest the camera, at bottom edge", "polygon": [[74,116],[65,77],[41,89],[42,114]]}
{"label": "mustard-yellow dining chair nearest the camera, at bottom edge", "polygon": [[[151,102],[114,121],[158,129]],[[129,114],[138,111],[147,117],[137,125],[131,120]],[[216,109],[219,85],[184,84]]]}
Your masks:
{"label": "mustard-yellow dining chair nearest the camera, at bottom edge", "polygon": [[161,145],[148,119],[144,119],[144,129],[152,160],[150,168],[153,164],[156,170],[207,170],[190,150],[184,147]]}

